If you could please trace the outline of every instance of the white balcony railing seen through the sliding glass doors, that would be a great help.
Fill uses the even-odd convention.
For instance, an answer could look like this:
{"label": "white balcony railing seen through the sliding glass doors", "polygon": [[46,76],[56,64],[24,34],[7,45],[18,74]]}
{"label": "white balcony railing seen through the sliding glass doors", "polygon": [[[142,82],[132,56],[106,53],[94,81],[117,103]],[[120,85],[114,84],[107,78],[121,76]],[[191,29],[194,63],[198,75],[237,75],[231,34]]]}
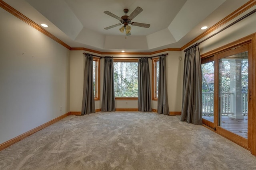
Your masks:
{"label": "white balcony railing seen through the sliding glass doors", "polygon": [[[232,112],[232,98],[233,93],[222,93],[221,111],[222,114],[233,114]],[[242,92],[242,113],[248,113],[247,92]],[[202,93],[202,110],[203,114],[213,114],[214,109],[214,93]]]}

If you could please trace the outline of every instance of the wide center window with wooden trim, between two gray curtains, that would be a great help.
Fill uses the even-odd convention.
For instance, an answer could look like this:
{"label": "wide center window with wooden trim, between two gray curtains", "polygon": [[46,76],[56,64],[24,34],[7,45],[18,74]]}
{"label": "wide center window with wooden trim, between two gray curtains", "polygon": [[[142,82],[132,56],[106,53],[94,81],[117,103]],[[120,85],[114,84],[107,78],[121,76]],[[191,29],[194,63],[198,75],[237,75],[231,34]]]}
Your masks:
{"label": "wide center window with wooden trim, between two gray curtains", "polygon": [[138,100],[138,59],[114,59],[116,100]]}

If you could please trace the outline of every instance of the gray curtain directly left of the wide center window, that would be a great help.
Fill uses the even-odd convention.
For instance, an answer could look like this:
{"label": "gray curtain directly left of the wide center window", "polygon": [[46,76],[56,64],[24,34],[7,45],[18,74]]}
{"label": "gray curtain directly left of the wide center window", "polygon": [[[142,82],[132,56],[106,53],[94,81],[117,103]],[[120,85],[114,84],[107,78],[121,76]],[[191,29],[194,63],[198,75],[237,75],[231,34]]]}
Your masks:
{"label": "gray curtain directly left of the wide center window", "polygon": [[101,111],[116,111],[113,57],[105,57],[104,59],[104,82]]}

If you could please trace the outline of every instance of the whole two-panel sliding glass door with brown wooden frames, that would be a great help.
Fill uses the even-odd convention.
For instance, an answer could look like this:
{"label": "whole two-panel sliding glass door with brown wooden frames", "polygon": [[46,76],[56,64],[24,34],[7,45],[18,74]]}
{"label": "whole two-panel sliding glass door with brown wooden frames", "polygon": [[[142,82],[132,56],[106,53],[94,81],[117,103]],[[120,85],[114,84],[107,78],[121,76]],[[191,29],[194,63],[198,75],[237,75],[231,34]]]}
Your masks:
{"label": "whole two-panel sliding glass door with brown wooden frames", "polygon": [[203,123],[251,148],[251,43],[202,60]]}

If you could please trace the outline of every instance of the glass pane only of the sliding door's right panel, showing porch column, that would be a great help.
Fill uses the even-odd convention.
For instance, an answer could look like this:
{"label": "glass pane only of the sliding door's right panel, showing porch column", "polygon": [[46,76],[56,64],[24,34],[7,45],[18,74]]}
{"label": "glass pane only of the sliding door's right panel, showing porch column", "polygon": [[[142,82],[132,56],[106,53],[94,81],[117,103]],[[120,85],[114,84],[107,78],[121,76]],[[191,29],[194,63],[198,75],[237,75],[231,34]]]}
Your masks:
{"label": "glass pane only of the sliding door's right panel, showing porch column", "polygon": [[219,126],[248,139],[248,51],[219,59]]}

